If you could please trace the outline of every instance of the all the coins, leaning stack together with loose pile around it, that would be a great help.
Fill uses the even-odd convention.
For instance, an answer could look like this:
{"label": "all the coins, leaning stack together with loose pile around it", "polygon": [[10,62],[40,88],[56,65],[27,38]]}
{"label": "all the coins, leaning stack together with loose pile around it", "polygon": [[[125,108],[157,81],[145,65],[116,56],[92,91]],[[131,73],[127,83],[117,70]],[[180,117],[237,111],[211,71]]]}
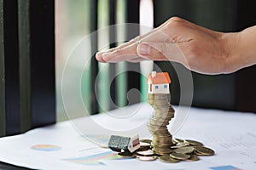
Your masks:
{"label": "all the coins, leaning stack together with loose pile around it", "polygon": [[174,117],[174,110],[168,102],[168,94],[148,94],[148,103],[155,110],[148,123],[148,131],[153,139],[140,140],[140,149],[132,154],[119,153],[126,158],[136,157],[139,161],[155,161],[166,163],[178,161],[198,161],[199,156],[212,156],[214,150],[203,146],[195,140],[172,139],[167,125]]}

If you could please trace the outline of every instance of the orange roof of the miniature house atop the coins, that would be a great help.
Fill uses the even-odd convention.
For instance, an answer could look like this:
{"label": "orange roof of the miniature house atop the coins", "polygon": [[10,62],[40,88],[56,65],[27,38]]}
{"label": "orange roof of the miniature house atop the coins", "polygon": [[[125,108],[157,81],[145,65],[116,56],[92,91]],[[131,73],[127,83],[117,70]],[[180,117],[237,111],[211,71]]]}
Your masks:
{"label": "orange roof of the miniature house atop the coins", "polygon": [[155,74],[155,77],[152,77],[152,73],[150,73],[147,81],[150,84],[169,84],[171,83],[171,78],[169,77],[168,72],[158,72]]}

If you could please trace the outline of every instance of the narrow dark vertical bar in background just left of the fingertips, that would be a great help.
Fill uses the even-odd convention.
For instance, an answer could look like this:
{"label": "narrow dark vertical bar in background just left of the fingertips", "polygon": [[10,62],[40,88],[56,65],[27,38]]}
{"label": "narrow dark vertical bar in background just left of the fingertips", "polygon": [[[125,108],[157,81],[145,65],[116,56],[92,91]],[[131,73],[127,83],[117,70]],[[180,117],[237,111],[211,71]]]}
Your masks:
{"label": "narrow dark vertical bar in background just left of the fingertips", "polygon": [[[90,32],[96,31],[98,27],[98,1],[90,0]],[[91,34],[91,60],[90,60],[90,113],[96,114],[98,112],[98,102],[96,100],[96,90],[98,87],[95,86],[96,76],[98,73],[98,63],[96,61],[96,52],[98,50],[98,35],[97,33]]]}

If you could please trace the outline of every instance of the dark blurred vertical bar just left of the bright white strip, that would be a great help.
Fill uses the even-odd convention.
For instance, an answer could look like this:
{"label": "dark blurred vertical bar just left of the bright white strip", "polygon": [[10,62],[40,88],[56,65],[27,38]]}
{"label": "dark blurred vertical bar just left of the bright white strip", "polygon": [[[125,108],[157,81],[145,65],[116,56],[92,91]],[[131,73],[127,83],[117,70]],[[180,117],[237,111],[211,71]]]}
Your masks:
{"label": "dark blurred vertical bar just left of the bright white strip", "polygon": [[[137,23],[139,24],[139,0],[126,0],[126,22],[127,23]],[[130,40],[137,37],[140,34],[139,25],[133,27],[133,29],[128,29],[126,32],[126,39]],[[132,70],[127,73],[127,92],[132,88],[140,89],[140,65],[136,63],[127,63],[127,69]],[[140,94],[129,95],[130,104],[135,104],[140,102]]]}

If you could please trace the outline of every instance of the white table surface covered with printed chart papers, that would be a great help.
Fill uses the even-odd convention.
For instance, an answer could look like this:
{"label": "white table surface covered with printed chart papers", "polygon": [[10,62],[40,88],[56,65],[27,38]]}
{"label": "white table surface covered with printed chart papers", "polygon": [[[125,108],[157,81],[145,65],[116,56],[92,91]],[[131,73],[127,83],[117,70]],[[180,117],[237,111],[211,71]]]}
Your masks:
{"label": "white table surface covered with printed chart papers", "polygon": [[154,110],[139,104],[2,138],[0,161],[35,169],[256,169],[255,114],[174,108],[175,118],[168,127],[173,137],[201,141],[216,151],[214,156],[167,164],[122,159],[100,147],[108,143],[111,134],[139,133],[140,139],[151,138],[146,125]]}

